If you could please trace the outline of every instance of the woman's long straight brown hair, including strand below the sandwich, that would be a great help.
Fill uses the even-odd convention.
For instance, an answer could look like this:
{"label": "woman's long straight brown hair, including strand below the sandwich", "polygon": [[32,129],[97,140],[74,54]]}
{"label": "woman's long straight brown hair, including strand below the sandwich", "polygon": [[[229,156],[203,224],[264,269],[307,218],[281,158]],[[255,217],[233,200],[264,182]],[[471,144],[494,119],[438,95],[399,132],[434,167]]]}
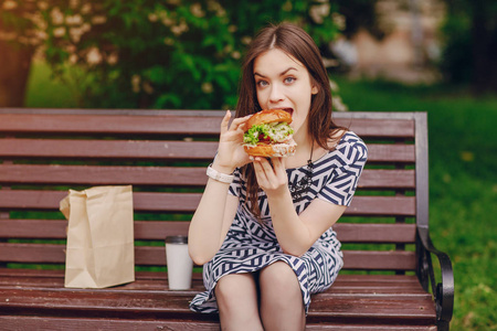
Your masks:
{"label": "woman's long straight brown hair, including strand below the sandwich", "polygon": [[[313,86],[318,87],[318,93],[311,96],[308,132],[311,135],[313,141],[324,149],[329,149],[329,139],[338,129],[342,128],[335,125],[331,119],[331,89],[319,49],[313,38],[297,25],[282,23],[264,28],[252,41],[242,66],[236,117],[262,110],[255,88],[254,62],[260,55],[273,49],[278,49],[299,61],[309,72]],[[260,217],[258,186],[253,164],[246,164],[242,173],[246,180],[250,210]]]}

